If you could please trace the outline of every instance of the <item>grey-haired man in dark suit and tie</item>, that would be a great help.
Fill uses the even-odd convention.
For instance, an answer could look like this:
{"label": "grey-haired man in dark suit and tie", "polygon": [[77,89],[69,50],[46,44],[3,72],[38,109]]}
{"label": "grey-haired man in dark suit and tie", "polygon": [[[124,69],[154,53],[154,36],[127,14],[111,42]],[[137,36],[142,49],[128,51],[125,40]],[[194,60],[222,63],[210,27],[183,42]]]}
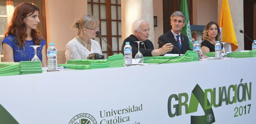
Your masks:
{"label": "grey-haired man in dark suit and tie", "polygon": [[169,51],[167,54],[185,54],[187,50],[191,50],[187,36],[180,32],[182,27],[186,24],[185,21],[185,14],[180,11],[175,11],[171,15],[172,29],[158,38],[159,48],[166,43],[172,43],[174,45],[173,50]]}

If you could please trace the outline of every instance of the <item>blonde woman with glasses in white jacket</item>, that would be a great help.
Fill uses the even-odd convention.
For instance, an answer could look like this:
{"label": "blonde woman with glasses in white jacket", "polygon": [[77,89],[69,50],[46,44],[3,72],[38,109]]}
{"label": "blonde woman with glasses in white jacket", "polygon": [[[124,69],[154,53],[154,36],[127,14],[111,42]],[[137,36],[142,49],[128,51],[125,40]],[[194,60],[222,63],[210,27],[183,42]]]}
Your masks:
{"label": "blonde woman with glasses in white jacket", "polygon": [[78,30],[78,36],[66,45],[66,60],[87,59],[91,53],[102,54],[101,46],[93,38],[96,37],[99,19],[91,14],[85,14],[76,20],[72,28]]}

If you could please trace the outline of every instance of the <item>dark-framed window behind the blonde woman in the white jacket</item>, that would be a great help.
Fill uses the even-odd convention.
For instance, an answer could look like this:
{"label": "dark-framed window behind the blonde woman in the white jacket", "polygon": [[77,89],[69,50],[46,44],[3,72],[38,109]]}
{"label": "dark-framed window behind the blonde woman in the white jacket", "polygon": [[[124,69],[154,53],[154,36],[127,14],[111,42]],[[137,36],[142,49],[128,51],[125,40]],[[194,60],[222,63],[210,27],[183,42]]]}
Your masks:
{"label": "dark-framed window behind the blonde woman in the white jacket", "polygon": [[[121,0],[88,0],[88,14],[99,18],[99,32],[102,38],[113,48],[114,54],[121,53]],[[94,38],[101,45],[105,58],[112,55],[110,48],[99,37]]]}

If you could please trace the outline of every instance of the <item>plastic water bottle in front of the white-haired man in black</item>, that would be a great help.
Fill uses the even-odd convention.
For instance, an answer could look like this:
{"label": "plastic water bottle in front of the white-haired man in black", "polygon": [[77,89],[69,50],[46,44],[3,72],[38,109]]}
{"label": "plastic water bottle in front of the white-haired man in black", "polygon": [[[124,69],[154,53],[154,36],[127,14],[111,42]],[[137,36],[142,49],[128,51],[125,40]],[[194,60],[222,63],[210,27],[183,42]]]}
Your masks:
{"label": "plastic water bottle in front of the white-haired man in black", "polygon": [[125,42],[125,47],[123,47],[123,52],[125,54],[125,66],[133,64],[133,52],[130,42]]}

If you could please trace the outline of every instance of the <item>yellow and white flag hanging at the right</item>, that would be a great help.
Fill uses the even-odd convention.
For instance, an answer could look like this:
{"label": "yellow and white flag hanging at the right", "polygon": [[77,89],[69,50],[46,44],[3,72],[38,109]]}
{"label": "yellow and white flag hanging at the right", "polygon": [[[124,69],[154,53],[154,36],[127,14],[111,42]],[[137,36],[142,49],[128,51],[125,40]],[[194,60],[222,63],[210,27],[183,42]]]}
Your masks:
{"label": "yellow and white flag hanging at the right", "polygon": [[227,42],[225,44],[226,51],[235,51],[238,48],[238,44],[227,0],[222,1],[219,27],[221,30],[221,41]]}

